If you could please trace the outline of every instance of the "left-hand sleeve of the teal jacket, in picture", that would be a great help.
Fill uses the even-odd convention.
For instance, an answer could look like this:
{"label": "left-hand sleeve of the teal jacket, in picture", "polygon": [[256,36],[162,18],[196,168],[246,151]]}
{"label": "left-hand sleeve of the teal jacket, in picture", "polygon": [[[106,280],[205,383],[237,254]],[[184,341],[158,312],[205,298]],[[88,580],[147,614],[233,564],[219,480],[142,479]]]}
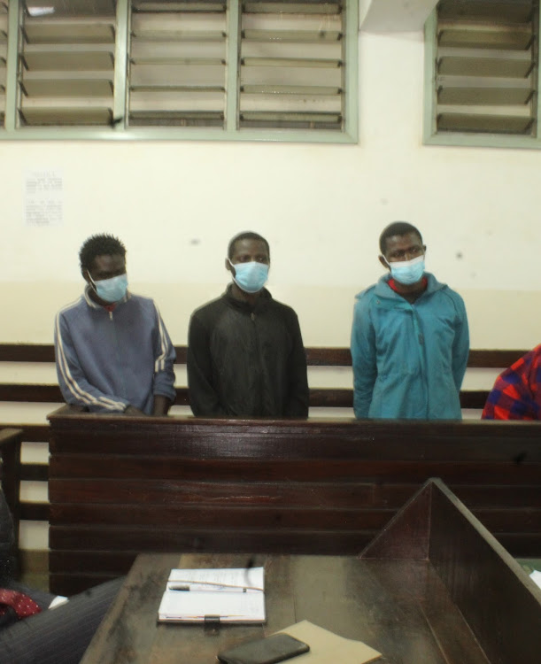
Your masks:
{"label": "left-hand sleeve of the teal jacket, in picture", "polygon": [[353,410],[360,420],[368,417],[377,376],[375,330],[366,302],[362,299],[353,310],[352,365]]}

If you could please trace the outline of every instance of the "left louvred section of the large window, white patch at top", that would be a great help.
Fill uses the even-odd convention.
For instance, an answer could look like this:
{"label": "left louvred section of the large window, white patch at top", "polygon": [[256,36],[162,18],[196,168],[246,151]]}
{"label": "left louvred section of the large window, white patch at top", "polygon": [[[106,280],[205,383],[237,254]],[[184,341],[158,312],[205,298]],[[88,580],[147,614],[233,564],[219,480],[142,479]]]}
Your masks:
{"label": "left louvred section of the large window, white patch at top", "polygon": [[21,125],[112,122],[113,0],[32,0],[19,41]]}

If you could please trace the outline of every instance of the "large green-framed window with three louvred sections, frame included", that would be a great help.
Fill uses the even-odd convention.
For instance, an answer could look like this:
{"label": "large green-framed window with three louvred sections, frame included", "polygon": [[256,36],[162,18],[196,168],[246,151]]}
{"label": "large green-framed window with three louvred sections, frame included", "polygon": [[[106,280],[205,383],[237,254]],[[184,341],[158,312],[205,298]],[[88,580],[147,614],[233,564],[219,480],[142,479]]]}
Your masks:
{"label": "large green-framed window with three louvred sections, frame included", "polygon": [[0,0],[0,139],[356,142],[358,29],[359,0]]}

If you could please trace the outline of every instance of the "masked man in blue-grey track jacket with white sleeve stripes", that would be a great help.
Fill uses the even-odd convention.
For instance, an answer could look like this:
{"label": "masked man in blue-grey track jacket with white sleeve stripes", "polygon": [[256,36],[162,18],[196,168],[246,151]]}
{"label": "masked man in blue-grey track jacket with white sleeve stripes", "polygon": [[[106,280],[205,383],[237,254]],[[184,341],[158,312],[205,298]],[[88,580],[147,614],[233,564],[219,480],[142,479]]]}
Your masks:
{"label": "masked man in blue-grey track jacket with white sleeve stripes", "polygon": [[57,315],[58,383],[91,413],[165,415],[174,402],[174,347],[158,309],[128,291],[126,248],[92,235],[79,254],[84,294]]}

